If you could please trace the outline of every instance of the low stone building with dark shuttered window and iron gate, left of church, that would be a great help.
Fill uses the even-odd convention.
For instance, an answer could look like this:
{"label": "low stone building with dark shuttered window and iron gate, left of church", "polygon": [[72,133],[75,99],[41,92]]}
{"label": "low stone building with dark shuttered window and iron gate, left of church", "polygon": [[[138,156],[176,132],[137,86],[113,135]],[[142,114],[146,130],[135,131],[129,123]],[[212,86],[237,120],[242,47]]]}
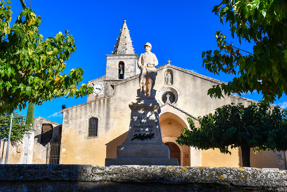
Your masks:
{"label": "low stone building with dark shuttered window and iron gate, left of church", "polygon": [[[59,164],[62,125],[43,117],[34,118],[34,128],[22,140],[10,143],[8,164]],[[0,164],[4,164],[7,139],[0,141]]]}

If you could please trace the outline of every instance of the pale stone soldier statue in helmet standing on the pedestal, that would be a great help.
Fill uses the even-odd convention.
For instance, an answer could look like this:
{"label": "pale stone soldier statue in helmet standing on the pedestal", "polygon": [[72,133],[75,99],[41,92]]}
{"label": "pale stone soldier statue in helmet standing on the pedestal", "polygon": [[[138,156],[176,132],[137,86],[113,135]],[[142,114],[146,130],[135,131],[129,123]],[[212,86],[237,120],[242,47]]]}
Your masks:
{"label": "pale stone soldier statue in helmet standing on the pedestal", "polygon": [[152,45],[150,43],[146,43],[144,48],[146,52],[139,56],[139,61],[137,62],[137,66],[141,69],[141,73],[139,75],[139,96],[151,97],[154,96],[151,91],[156,81],[157,71],[154,66],[158,65],[158,59],[155,54],[150,52],[152,49]]}

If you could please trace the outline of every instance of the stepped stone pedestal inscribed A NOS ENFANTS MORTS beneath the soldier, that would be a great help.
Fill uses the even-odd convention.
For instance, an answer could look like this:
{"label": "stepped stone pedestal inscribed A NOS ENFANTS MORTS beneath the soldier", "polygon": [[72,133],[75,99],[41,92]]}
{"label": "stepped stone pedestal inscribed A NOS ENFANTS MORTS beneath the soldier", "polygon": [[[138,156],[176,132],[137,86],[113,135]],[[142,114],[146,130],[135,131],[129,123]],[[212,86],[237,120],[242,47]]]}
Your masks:
{"label": "stepped stone pedestal inscribed A NOS ENFANTS MORTS beneath the soldier", "polygon": [[159,116],[160,106],[154,97],[136,97],[129,104],[131,123],[123,145],[117,146],[117,158],[106,158],[111,165],[172,165],[168,146],[162,142]]}

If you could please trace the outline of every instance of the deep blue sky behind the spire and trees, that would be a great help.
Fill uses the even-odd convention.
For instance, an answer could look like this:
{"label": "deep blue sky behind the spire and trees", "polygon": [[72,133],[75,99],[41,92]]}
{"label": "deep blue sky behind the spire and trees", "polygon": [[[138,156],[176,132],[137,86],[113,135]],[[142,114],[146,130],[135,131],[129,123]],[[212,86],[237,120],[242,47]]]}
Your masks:
{"label": "deep blue sky behind the spire and trees", "polygon": [[[145,3],[146,2],[146,3]],[[176,3],[175,3],[176,2]],[[29,1],[25,0],[29,7]],[[212,13],[214,5],[220,1],[37,1],[31,0],[31,8],[41,16],[40,34],[53,37],[59,31],[70,31],[76,38],[77,50],[67,61],[64,71],[72,68],[84,70],[82,83],[96,79],[106,73],[106,54],[111,54],[119,36],[119,29],[124,18],[130,30],[130,36],[136,54],[144,52],[146,42],[152,44],[152,52],[158,58],[159,66],[170,60],[172,65],[188,69],[196,73],[228,82],[232,75],[214,75],[202,67],[201,53],[217,48],[214,34],[221,30],[227,41],[241,49],[252,51],[253,45],[238,39],[232,39],[229,26],[224,27],[218,16]],[[19,0],[13,0],[11,26],[21,10]],[[241,52],[241,54],[244,54]],[[261,100],[257,93],[242,95],[243,97]],[[44,117],[62,123],[62,104],[67,107],[86,102],[86,97],[59,98],[35,106],[34,117]],[[282,96],[275,101],[287,107],[287,97]],[[26,109],[22,110],[26,115]]]}

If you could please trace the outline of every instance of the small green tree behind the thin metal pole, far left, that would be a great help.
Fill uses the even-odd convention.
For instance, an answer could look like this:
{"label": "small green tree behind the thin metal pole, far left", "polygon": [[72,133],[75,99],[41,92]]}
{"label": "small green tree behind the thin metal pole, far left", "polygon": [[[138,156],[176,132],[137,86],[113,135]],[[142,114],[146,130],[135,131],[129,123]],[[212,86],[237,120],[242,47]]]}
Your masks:
{"label": "small green tree behind the thin metal pole, far left", "polygon": [[[0,115],[0,139],[8,138],[11,114]],[[15,143],[23,138],[23,135],[30,130],[29,125],[25,124],[26,117],[22,114],[13,113],[11,143]]]}

